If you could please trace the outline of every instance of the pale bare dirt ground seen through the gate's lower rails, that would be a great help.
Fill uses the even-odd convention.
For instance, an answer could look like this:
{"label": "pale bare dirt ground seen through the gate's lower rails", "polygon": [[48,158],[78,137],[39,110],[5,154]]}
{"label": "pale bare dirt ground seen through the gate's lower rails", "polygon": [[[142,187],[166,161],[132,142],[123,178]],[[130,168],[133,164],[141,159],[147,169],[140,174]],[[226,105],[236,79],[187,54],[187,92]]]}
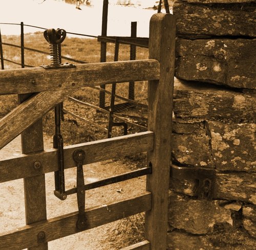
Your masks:
{"label": "pale bare dirt ground seen through the gate's lower rails", "polygon": [[[52,147],[52,139],[44,137],[45,148]],[[0,151],[0,160],[15,157],[21,154],[20,136],[6,145]],[[122,165],[119,161],[104,161],[83,166],[84,180],[86,183],[129,171],[131,166]],[[65,170],[66,188],[76,184],[76,169]],[[25,226],[25,207],[23,179],[0,184],[0,231],[7,232]],[[60,201],[53,194],[54,173],[46,174],[46,194],[47,194],[47,217],[52,218],[59,215],[77,211],[76,195],[69,195],[65,201]],[[124,181],[100,187],[86,192],[86,207],[104,205],[145,190],[145,178]],[[49,242],[49,250],[62,249],[119,249],[122,242],[111,240],[113,229],[117,226],[117,221],[84,231],[65,238],[60,238]],[[113,237],[112,237],[113,238]]]}

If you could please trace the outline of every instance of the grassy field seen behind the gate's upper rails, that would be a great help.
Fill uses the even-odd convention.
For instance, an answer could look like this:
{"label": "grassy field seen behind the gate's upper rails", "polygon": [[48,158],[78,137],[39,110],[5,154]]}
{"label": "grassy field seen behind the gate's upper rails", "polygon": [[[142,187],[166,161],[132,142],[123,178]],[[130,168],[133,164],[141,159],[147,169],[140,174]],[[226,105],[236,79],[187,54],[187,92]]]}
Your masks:
{"label": "grassy field seen behind the gate's upper rails", "polygon": [[[20,45],[19,36],[2,36],[2,42],[11,43],[15,45]],[[35,48],[40,51],[49,51],[49,44],[45,40],[42,32],[36,32],[33,34],[25,34],[25,47]],[[114,61],[114,43],[108,43],[106,58],[107,61]],[[20,48],[3,45],[4,58],[13,60],[20,63]],[[100,43],[97,39],[86,39],[86,38],[74,38],[67,37],[65,41],[61,44],[61,55],[85,62],[99,62],[100,61]],[[119,48],[119,60],[129,60],[130,58],[130,45],[121,44]],[[148,49],[137,48],[137,59],[148,58]],[[62,62],[69,62],[68,60],[62,60]],[[50,64],[49,55],[44,55],[40,53],[31,52],[25,50],[25,64],[32,66],[39,66],[42,64]],[[19,65],[5,61],[5,69],[20,68]],[[111,91],[111,85],[106,85],[106,89]],[[128,85],[117,84],[116,94],[127,97],[128,95]],[[79,89],[73,95],[75,98],[93,104],[95,106],[99,105],[99,91],[92,88],[82,88]],[[147,83],[138,82],[135,84],[135,99],[141,103],[147,102]],[[117,103],[122,101],[116,100]],[[110,103],[110,95],[106,95],[105,105],[108,106]],[[17,105],[16,95],[6,95],[0,96],[0,117],[3,117],[8,112],[10,112]],[[93,121],[99,124],[101,127],[107,128],[108,126],[108,115],[96,112],[96,110],[81,107],[81,105],[75,104],[71,101],[66,101],[64,103],[65,109],[70,110],[79,116],[86,118],[87,120]],[[130,114],[130,116],[140,116],[144,114],[146,116],[146,110],[137,109],[136,107],[130,108],[129,110],[121,110],[117,112],[122,112],[125,114]],[[138,123],[142,126],[146,126],[146,119],[133,119],[131,117],[125,117],[126,119]],[[98,128],[98,126],[92,126],[88,122],[81,121],[73,116],[66,114],[65,121],[61,124],[62,136],[65,144],[75,144],[86,141],[98,140],[106,138],[106,133]],[[136,127],[129,127],[129,133],[135,133],[141,131]],[[54,134],[54,114],[50,111],[44,117],[44,132],[52,136]],[[113,128],[113,135],[122,135],[122,130],[120,128]]]}

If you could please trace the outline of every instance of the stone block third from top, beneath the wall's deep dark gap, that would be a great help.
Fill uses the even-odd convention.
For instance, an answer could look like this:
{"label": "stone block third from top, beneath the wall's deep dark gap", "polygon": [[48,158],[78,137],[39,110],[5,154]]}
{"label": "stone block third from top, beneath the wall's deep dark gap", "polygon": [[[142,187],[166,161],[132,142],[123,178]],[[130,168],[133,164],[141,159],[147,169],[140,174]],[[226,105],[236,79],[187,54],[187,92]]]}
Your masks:
{"label": "stone block third from top, beneath the wall's deep dark gap", "polygon": [[175,79],[174,113],[185,119],[256,120],[256,94]]}

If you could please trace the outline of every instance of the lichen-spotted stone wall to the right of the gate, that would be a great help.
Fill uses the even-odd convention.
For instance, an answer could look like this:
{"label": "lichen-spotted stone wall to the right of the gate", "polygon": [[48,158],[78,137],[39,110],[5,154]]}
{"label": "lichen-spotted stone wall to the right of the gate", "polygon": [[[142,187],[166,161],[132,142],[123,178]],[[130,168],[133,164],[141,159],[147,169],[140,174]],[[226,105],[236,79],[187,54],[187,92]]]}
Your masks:
{"label": "lichen-spotted stone wall to the right of the gate", "polygon": [[170,179],[168,249],[256,249],[256,2],[177,0],[172,162],[214,169],[214,197]]}

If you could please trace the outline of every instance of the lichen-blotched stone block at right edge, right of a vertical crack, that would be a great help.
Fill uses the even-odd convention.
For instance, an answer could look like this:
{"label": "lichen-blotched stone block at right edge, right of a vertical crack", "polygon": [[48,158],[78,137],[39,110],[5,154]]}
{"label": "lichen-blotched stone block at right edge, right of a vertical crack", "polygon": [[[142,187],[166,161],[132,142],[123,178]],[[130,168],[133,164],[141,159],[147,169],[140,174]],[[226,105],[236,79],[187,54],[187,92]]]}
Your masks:
{"label": "lichen-blotched stone block at right edge, right of a vertical crack", "polygon": [[207,123],[216,169],[256,171],[254,123]]}

